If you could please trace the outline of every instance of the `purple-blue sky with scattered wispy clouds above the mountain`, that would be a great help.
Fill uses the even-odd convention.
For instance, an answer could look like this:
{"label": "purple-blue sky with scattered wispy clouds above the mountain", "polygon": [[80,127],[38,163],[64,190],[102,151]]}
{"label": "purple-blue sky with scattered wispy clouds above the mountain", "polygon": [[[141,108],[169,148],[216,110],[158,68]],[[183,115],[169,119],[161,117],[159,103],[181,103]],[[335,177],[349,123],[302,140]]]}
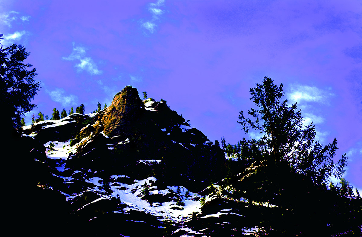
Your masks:
{"label": "purple-blue sky with scattered wispy clouds above the mountain", "polygon": [[0,33],[37,68],[35,115],[81,103],[89,113],[132,85],[211,141],[235,144],[256,137],[238,116],[253,107],[249,88],[269,76],[322,144],[337,138],[336,160],[349,155],[345,178],[362,191],[360,0],[5,0]]}

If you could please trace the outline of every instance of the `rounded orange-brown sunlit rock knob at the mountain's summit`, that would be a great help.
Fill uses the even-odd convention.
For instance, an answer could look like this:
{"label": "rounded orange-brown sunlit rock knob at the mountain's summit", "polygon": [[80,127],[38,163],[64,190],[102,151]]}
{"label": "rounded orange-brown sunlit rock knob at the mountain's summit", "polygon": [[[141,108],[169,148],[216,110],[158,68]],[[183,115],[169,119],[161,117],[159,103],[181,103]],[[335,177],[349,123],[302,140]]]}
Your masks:
{"label": "rounded orange-brown sunlit rock knob at the mountain's summit", "polygon": [[128,130],[139,119],[144,111],[143,107],[137,89],[126,86],[114,96],[112,104],[104,112],[101,119],[104,134],[114,137]]}

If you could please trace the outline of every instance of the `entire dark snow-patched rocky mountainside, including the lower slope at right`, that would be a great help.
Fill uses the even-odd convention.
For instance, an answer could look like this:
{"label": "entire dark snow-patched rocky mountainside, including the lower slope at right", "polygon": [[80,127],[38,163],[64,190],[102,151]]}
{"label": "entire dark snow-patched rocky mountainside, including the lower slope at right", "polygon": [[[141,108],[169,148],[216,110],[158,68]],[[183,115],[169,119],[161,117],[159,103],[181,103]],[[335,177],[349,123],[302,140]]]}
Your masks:
{"label": "entire dark snow-patched rocky mountainside, including the lower slope at right", "polygon": [[18,235],[359,232],[359,197],[266,160],[255,141],[227,155],[165,100],[142,101],[132,86],[104,110],[36,122],[14,137],[5,213]]}

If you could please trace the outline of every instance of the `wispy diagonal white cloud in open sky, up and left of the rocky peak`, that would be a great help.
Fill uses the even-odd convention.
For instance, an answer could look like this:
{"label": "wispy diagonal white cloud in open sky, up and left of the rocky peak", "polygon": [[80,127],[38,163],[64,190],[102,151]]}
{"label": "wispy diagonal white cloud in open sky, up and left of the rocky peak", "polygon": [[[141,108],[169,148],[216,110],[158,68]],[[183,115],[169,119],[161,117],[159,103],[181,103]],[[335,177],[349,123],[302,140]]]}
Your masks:
{"label": "wispy diagonal white cloud in open sky, up and left of the rocky peak", "polygon": [[102,71],[98,70],[98,67],[96,63],[94,63],[93,59],[86,57],[85,55],[85,48],[80,46],[75,47],[75,43],[73,43],[73,51],[71,55],[63,57],[63,59],[68,61],[79,60],[80,63],[75,65],[75,67],[78,68],[77,72],[83,72],[83,70],[86,70],[91,75],[102,74]]}

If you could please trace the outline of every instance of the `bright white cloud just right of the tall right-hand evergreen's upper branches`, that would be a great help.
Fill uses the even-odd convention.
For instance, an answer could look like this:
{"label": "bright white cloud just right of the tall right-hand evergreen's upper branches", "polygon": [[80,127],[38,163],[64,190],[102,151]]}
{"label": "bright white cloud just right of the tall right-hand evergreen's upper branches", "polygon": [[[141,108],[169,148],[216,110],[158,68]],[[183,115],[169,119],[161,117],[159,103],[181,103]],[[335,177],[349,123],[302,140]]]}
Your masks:
{"label": "bright white cloud just right of the tall right-hand evergreen's upper branches", "polygon": [[291,87],[291,93],[288,93],[289,99],[294,102],[318,102],[328,104],[328,100],[334,94],[328,91],[320,90],[317,87],[294,85]]}

